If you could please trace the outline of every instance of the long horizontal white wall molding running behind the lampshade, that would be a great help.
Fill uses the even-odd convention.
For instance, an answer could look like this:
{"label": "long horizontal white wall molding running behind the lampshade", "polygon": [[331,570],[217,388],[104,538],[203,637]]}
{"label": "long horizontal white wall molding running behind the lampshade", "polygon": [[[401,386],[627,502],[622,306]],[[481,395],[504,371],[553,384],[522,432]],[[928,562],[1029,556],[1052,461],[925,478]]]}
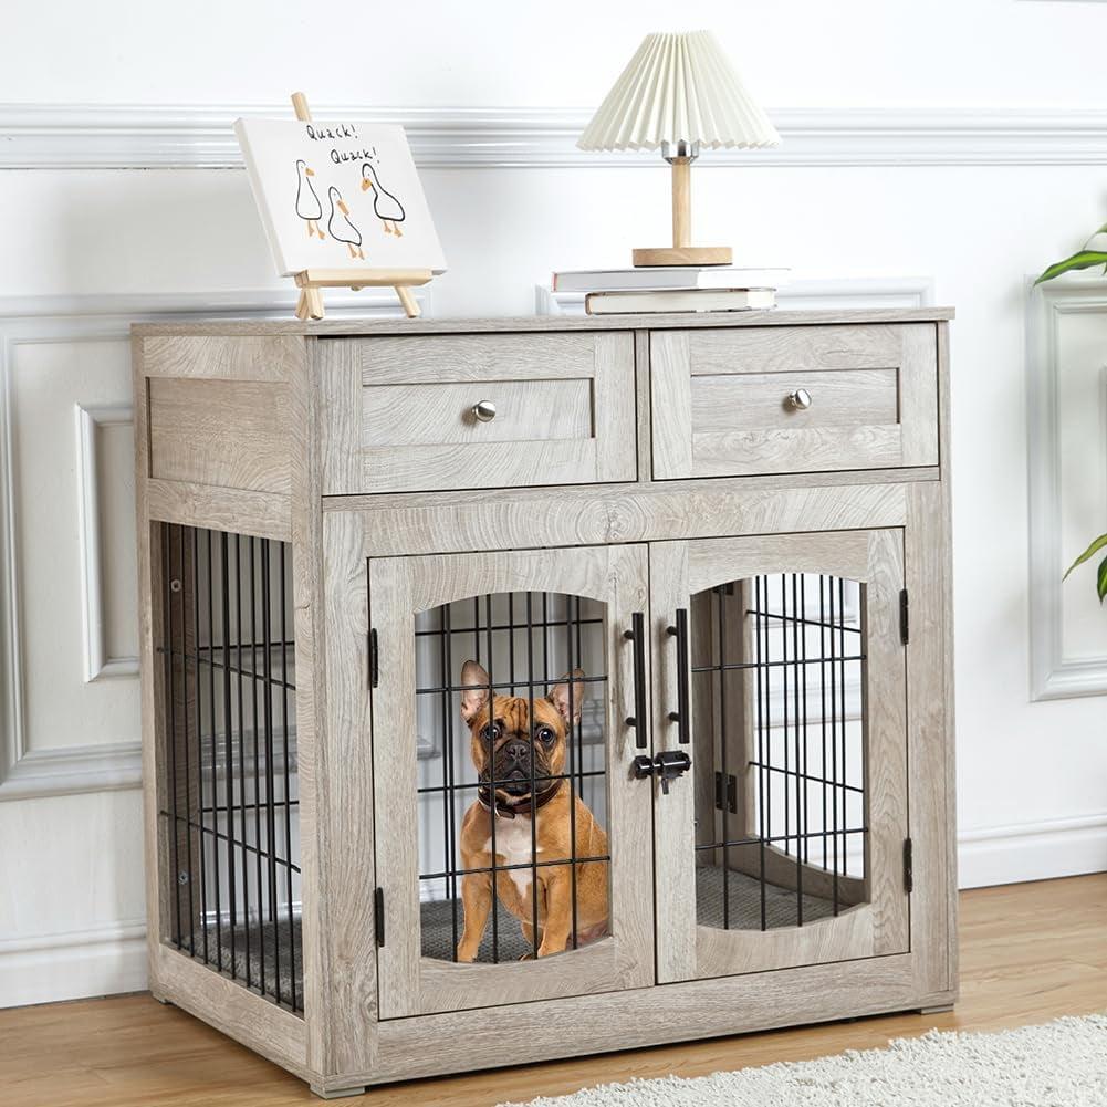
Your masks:
{"label": "long horizontal white wall molding running behind the lampshade", "polygon": [[[425,168],[656,166],[656,155],[576,148],[580,107],[318,105],[319,118],[401,123]],[[1105,165],[1107,111],[1013,107],[787,107],[783,143],[717,151],[704,165]],[[273,105],[0,105],[0,168],[238,168],[239,116],[291,117]]]}

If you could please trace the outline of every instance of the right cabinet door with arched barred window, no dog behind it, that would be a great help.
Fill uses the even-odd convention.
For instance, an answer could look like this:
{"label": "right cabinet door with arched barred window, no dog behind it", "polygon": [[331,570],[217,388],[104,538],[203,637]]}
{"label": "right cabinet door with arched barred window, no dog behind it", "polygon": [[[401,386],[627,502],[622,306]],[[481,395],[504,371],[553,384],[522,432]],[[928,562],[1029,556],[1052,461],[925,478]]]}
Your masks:
{"label": "right cabinet door with arched barred window, no dog behind it", "polygon": [[906,952],[902,532],[650,558],[659,981]]}

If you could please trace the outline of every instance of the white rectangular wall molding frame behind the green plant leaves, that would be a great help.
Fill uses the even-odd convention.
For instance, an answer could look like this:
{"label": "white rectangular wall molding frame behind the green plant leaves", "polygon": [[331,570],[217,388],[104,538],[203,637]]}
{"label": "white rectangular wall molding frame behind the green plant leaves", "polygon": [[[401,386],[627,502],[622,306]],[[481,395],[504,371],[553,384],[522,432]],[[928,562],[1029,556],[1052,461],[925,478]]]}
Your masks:
{"label": "white rectangular wall molding frame behind the green plant leaves", "polygon": [[[1066,660],[1061,556],[1061,321],[1103,314],[1107,280],[1072,279],[1031,291],[1027,312],[1027,465],[1030,524],[1031,696],[1057,700],[1107,693],[1107,653]],[[1101,408],[1104,400],[1100,400]],[[1107,421],[1107,410],[1104,411]],[[1107,422],[1105,422],[1107,426]],[[1094,524],[1089,524],[1094,526]],[[1089,537],[1095,530],[1089,530]]]}

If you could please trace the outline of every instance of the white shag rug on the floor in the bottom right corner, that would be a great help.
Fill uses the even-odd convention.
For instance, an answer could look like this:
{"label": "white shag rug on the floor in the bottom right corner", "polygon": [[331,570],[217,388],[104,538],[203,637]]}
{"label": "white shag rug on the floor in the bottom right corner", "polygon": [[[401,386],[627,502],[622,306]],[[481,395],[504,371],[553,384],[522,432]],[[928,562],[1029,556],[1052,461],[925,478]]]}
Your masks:
{"label": "white shag rug on the floor in the bottom right corner", "polygon": [[[1107,1015],[999,1033],[930,1031],[887,1049],[666,1076],[528,1107],[1105,1107]],[[519,1104],[500,1107],[521,1107]]]}

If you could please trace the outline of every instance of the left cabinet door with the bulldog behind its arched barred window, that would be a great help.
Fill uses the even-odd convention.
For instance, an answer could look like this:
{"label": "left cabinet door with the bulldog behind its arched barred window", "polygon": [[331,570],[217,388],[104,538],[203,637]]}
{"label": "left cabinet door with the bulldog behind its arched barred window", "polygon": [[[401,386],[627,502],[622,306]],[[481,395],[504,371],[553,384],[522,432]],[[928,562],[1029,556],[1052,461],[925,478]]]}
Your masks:
{"label": "left cabinet door with the bulldog behind its arched barred window", "polygon": [[645,547],[369,575],[382,1017],[653,983]]}

